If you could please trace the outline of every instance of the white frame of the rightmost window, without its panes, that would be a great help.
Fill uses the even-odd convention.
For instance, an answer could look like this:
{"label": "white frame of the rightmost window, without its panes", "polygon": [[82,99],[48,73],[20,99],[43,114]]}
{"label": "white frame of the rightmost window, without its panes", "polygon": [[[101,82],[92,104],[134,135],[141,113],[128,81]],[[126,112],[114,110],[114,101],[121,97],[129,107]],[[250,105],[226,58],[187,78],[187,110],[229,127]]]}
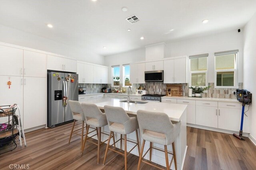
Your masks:
{"label": "white frame of the rightmost window, without its panes", "polygon": [[[221,53],[221,52],[220,52]],[[235,68],[216,70],[216,56],[235,54]],[[234,71],[234,86],[217,86],[217,72],[233,72]],[[214,88],[238,88],[238,50],[230,53],[229,51],[222,52],[222,54],[214,54]]]}

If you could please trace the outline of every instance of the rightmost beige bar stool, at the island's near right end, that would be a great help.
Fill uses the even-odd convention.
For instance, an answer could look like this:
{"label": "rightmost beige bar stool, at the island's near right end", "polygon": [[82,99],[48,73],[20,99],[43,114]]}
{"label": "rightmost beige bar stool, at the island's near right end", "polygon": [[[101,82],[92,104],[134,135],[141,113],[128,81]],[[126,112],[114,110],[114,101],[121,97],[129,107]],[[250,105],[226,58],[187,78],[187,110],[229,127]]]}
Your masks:
{"label": "rightmost beige bar stool, at the island's near right end", "polygon": [[[144,110],[137,111],[137,118],[138,118],[138,123],[140,127],[140,134],[143,139],[137,169],[138,170],[140,169],[141,162],[150,164],[142,159],[148,153],[148,151],[150,151],[150,162],[151,162],[152,149],[160,150],[152,147],[152,143],[157,143],[159,145],[164,145],[164,150],[160,150],[160,151],[165,152],[166,169],[167,170],[170,169],[172,165],[172,160],[174,160],[175,169],[177,170],[174,141],[180,133],[180,126],[181,126],[180,122],[172,124],[172,122],[170,121],[166,113],[158,113],[158,112],[151,112],[151,111],[144,111]],[[142,156],[145,141],[150,142],[150,148],[146,151],[144,156]],[[170,145],[170,144],[172,144],[173,153],[170,153],[167,150],[167,145]],[[173,155],[170,165],[168,160],[168,153]],[[150,164],[150,165],[156,168],[159,168],[153,164]],[[162,169],[162,168],[159,168],[159,169]]]}

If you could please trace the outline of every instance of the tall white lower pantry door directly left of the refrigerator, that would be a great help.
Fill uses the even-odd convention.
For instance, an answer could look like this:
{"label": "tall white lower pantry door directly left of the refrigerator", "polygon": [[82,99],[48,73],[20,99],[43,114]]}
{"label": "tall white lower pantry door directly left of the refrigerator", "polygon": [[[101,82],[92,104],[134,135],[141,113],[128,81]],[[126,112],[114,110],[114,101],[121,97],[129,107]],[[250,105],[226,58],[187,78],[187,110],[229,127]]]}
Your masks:
{"label": "tall white lower pantry door directly left of the refrigerator", "polygon": [[46,78],[24,77],[24,129],[46,124]]}

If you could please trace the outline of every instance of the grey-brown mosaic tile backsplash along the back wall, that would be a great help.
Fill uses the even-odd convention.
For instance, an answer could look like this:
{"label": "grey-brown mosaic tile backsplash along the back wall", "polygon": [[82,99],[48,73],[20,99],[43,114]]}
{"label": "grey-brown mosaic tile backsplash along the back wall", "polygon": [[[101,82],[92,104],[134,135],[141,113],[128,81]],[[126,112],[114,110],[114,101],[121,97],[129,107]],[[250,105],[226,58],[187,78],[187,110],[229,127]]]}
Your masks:
{"label": "grey-brown mosaic tile backsplash along the back wall", "polygon": [[[148,94],[166,94],[166,85],[163,82],[147,82],[145,84],[141,84],[148,92]],[[111,84],[108,84],[111,87]],[[138,89],[140,84],[132,84],[132,92],[136,93],[136,89]],[[208,89],[208,93],[203,93],[202,97],[209,98],[230,98],[235,99],[236,96],[232,93],[236,91],[236,88],[214,88],[214,83],[209,83],[208,86],[211,86]],[[243,88],[243,83],[238,83],[239,89]],[[122,84],[119,87],[115,87],[120,90]],[[112,88],[114,89],[114,88]],[[124,89],[124,88],[123,88]],[[125,88],[127,91],[127,88]],[[188,84],[182,84],[183,96],[188,96]]]}

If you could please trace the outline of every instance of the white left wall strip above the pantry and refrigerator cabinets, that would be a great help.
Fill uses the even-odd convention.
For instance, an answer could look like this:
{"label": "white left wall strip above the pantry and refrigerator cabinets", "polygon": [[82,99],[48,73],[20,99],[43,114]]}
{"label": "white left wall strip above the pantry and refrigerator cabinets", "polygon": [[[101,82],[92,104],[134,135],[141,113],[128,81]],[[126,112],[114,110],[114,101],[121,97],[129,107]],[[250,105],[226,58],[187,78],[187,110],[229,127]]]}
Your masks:
{"label": "white left wall strip above the pantry and refrigerator cabinets", "polygon": [[74,59],[94,64],[104,64],[105,57],[97,55],[90,49],[72,47],[56,41],[39,37],[18,29],[0,25],[0,41],[14,45],[20,45],[32,49],[38,49],[59,55],[65,55]]}

